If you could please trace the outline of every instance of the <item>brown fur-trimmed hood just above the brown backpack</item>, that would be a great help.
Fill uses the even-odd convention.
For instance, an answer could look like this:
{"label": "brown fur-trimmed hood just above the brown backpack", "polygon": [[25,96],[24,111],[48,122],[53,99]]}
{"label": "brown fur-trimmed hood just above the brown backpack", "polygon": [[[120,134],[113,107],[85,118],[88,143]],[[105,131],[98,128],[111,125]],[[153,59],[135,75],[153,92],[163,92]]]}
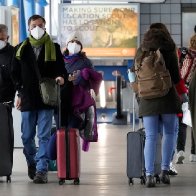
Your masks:
{"label": "brown fur-trimmed hood just above the brown backpack", "polygon": [[143,51],[149,50],[167,50],[174,51],[175,43],[171,36],[160,29],[150,29],[144,34],[144,38],[141,44]]}

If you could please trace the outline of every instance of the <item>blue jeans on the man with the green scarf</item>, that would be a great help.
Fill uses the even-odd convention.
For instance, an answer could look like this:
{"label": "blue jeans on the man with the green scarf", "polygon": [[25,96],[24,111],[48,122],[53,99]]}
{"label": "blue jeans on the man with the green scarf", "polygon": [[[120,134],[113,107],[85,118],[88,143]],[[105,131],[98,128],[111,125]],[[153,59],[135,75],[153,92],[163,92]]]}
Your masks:
{"label": "blue jeans on the man with the green scarf", "polygon": [[[53,113],[53,110],[21,112],[21,138],[24,146],[23,153],[26,157],[27,165],[36,164],[37,171],[48,171],[46,148],[50,138]],[[36,149],[35,145],[36,126],[39,145],[38,149]]]}

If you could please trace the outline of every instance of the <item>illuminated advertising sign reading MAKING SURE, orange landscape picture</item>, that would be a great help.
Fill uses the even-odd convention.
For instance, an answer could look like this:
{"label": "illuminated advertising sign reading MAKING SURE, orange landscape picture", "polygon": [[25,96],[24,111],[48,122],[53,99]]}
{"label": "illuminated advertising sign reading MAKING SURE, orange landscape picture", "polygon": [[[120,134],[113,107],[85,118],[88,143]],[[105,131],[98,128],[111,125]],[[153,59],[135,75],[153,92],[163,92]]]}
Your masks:
{"label": "illuminated advertising sign reading MAKING SURE, orange landscape picture", "polygon": [[59,5],[59,42],[76,36],[89,57],[134,57],[139,5]]}

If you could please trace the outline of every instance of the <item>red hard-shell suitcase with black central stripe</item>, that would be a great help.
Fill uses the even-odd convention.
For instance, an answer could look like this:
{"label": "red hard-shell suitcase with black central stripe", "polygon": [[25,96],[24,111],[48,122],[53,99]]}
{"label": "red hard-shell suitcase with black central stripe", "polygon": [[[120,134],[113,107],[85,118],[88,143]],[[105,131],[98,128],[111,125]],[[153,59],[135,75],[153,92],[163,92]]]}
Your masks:
{"label": "red hard-shell suitcase with black central stripe", "polygon": [[57,131],[57,175],[59,185],[65,180],[74,180],[74,184],[80,183],[80,138],[77,129]]}

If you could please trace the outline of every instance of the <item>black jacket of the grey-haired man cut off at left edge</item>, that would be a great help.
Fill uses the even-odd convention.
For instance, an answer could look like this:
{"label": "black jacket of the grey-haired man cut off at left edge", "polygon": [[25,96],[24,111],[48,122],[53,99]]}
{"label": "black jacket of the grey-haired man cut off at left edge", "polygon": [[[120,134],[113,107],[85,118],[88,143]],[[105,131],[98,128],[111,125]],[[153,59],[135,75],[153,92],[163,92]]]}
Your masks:
{"label": "black jacket of the grey-haired man cut off at left edge", "polygon": [[14,47],[9,43],[0,50],[0,102],[14,100],[15,88],[10,73],[13,54]]}

